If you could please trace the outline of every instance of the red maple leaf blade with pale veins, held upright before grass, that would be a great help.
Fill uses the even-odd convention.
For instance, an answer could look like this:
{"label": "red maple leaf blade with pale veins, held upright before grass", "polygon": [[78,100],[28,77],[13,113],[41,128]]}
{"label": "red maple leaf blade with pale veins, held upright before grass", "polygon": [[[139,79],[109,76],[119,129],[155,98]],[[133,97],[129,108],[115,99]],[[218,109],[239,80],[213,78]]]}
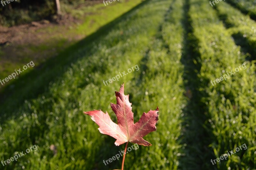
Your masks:
{"label": "red maple leaf blade with pale veins, held upright before grass", "polygon": [[100,128],[100,133],[112,136],[116,139],[117,146],[125,143],[137,143],[144,146],[150,146],[148,141],[143,137],[152,131],[156,131],[156,122],[158,120],[158,107],[156,110],[150,110],[143,113],[140,120],[134,124],[132,103],[129,102],[129,95],[124,95],[124,83],[121,85],[120,91],[116,91],[116,104],[110,103],[112,110],[117,117],[117,124],[114,123],[108,112],[101,110],[84,112],[84,114],[92,116],[92,120],[96,122]]}

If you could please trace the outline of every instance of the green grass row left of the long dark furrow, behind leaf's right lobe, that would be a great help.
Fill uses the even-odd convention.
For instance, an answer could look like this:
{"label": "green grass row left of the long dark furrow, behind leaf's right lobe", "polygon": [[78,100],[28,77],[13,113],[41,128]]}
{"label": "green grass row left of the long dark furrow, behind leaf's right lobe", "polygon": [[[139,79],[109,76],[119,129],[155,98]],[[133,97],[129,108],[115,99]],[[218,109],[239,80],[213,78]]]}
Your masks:
{"label": "green grass row left of the long dark furrow, behind leaf's right lobe", "polygon": [[133,108],[137,108],[136,121],[139,119],[138,114],[148,111],[148,108],[155,109],[156,104],[160,114],[157,131],[145,136],[152,146],[141,146],[135,151],[138,155],[135,160],[128,154],[126,169],[186,168],[180,164],[185,147],[180,140],[184,119],[182,110],[187,103],[183,95],[184,66],[180,62],[184,31],[181,25],[183,2],[173,1],[159,26],[159,32],[152,39],[152,45],[141,60],[142,73],[136,72],[132,97],[135,100]]}

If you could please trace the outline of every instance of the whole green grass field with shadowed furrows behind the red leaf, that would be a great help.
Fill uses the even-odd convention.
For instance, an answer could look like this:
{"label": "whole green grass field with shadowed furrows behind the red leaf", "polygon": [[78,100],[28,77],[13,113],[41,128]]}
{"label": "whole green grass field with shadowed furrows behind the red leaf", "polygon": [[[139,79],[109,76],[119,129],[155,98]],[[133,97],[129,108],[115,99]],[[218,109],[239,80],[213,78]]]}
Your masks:
{"label": "whole green grass field with shadowed furrows behind the red leaf", "polygon": [[[0,161],[38,150],[0,169],[120,169],[121,160],[103,160],[124,145],[83,111],[108,111],[116,122],[109,103],[123,82],[135,122],[160,111],[157,131],[144,137],[152,146],[129,152],[124,169],[256,169],[256,22],[239,3],[145,0],[28,71],[1,94]],[[236,153],[212,164],[228,151]]]}

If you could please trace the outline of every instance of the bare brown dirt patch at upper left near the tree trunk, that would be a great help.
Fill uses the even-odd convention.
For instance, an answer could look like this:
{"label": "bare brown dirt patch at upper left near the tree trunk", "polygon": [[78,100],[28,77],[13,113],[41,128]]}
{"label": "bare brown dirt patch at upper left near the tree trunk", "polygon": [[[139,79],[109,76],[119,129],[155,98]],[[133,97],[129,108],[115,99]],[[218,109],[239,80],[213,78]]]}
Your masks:
{"label": "bare brown dirt patch at upper left near the tree trunk", "polygon": [[[85,1],[84,4],[77,5],[74,9],[80,9],[84,6],[92,6],[102,3],[101,0]],[[83,17],[88,17],[88,13],[84,13]],[[65,35],[65,32],[70,27],[76,26],[82,23],[81,20],[74,18],[70,14],[63,14],[54,16],[51,21],[41,20],[33,21],[28,24],[23,24],[13,27],[0,26],[0,67],[3,66],[5,61],[17,62],[22,58],[42,58],[49,57],[56,49],[45,48],[41,54],[34,54],[30,49],[26,49],[29,46],[40,46],[42,44],[51,42],[53,36],[62,37],[68,39],[69,42],[80,40],[81,36]],[[58,27],[56,31],[56,27]],[[55,29],[54,29],[55,28]],[[46,32],[42,30],[51,30],[52,32]],[[60,40],[61,41],[61,40]],[[47,44],[46,44],[47,46]]]}

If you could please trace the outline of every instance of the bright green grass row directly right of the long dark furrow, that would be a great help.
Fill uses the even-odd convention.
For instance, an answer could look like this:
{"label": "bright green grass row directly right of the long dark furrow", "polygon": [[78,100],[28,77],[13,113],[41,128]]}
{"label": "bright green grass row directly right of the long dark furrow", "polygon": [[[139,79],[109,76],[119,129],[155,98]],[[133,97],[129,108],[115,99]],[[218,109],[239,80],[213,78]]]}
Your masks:
{"label": "bright green grass row directly right of the long dark furrow", "polygon": [[212,165],[218,169],[255,168],[255,64],[245,62],[246,69],[236,72],[226,81],[211,83],[226,72],[233,71],[245,61],[240,47],[236,46],[231,35],[217,17],[217,13],[203,0],[191,0],[189,15],[194,35],[199,41],[198,51],[201,57],[200,79],[209,97],[204,98],[208,106],[214,140],[210,147],[215,158],[234,151],[246,144],[247,149],[236,152],[227,160]]}

